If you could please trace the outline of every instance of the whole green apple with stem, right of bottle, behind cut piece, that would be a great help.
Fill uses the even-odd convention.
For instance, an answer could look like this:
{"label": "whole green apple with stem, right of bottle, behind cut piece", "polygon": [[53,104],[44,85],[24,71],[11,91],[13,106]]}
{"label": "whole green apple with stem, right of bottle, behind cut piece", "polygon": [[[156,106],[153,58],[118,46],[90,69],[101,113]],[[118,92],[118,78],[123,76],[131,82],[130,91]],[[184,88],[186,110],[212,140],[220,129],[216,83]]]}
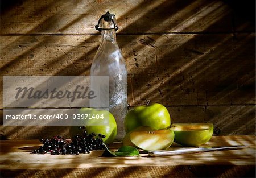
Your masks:
{"label": "whole green apple with stem, right of bottle, behind cut piece", "polygon": [[135,107],[125,117],[126,133],[139,126],[150,126],[160,130],[167,129],[170,125],[171,118],[168,110],[158,103]]}

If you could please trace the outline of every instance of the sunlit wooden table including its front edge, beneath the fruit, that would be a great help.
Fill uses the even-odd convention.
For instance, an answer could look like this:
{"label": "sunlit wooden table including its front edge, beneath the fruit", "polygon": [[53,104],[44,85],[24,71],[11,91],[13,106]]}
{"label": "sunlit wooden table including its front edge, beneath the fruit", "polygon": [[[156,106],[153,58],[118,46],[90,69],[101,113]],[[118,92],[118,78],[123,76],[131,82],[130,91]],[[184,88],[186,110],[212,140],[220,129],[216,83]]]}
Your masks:
{"label": "sunlit wooden table including its front edge, beneath the fruit", "polygon": [[[255,177],[255,136],[213,136],[205,145],[245,145],[242,150],[150,158],[31,154],[39,140],[1,140],[0,177]],[[112,144],[117,150],[121,144]],[[174,147],[179,147],[173,144]]]}

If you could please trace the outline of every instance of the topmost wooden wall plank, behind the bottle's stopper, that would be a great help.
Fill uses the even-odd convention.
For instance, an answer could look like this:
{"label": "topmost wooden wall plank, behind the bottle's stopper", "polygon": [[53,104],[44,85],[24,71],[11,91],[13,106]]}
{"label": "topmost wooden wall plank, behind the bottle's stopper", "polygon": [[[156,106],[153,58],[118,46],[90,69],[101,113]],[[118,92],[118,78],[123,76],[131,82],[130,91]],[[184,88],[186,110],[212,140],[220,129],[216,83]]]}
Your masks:
{"label": "topmost wooden wall plank, behind the bottle's stopper", "polygon": [[106,11],[117,16],[121,33],[233,31],[233,9],[222,1],[27,0],[2,11],[1,34],[94,34]]}

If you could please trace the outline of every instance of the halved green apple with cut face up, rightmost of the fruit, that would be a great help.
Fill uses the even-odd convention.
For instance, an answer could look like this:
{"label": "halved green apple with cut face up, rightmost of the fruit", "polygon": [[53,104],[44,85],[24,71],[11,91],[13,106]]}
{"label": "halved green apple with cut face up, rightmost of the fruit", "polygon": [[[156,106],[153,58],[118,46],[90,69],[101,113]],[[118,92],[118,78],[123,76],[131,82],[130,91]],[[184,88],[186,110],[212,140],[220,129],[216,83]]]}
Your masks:
{"label": "halved green apple with cut face up, rightmost of the fruit", "polygon": [[199,146],[212,138],[212,123],[173,123],[174,142],[183,146]]}

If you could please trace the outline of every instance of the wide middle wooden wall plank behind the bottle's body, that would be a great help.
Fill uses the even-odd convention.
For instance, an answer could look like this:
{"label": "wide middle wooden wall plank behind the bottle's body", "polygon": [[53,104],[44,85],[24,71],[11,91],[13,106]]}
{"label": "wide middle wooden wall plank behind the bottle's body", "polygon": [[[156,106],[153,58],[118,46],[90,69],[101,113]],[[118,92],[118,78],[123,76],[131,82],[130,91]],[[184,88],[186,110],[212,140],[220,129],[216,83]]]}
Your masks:
{"label": "wide middle wooden wall plank behind the bottle's body", "polygon": [[[254,39],[255,34],[118,36],[129,73],[129,104],[255,104]],[[89,75],[99,40],[100,36],[2,37],[0,73]]]}

